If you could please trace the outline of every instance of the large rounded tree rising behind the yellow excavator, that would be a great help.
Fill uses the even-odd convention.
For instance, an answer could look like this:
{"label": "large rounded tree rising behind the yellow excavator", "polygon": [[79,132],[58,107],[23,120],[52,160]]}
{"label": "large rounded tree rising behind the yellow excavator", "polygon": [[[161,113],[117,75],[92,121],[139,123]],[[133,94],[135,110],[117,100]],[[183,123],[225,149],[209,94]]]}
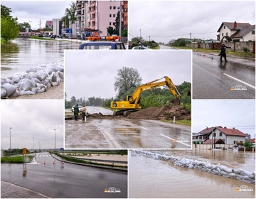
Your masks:
{"label": "large rounded tree rising behind the yellow excavator", "polygon": [[142,84],[142,77],[137,69],[123,67],[117,70],[117,76],[114,77],[114,91],[117,91],[117,98],[124,99],[125,92],[132,87],[138,87]]}

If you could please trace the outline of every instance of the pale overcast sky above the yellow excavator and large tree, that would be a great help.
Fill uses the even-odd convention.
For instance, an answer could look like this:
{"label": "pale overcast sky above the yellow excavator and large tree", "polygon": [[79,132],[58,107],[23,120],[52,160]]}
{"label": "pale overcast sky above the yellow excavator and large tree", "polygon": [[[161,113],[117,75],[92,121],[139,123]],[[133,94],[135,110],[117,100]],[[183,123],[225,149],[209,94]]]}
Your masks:
{"label": "pale overcast sky above the yellow excavator and large tree", "polygon": [[65,50],[67,99],[115,97],[114,77],[122,67],[135,68],[142,83],[168,76],[174,85],[191,82],[190,50]]}

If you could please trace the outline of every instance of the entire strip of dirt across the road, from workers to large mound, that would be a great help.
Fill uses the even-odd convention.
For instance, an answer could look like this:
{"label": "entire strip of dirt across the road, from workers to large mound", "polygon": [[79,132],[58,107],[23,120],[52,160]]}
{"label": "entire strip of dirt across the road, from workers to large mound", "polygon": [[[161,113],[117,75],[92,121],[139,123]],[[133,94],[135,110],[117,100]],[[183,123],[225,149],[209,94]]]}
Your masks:
{"label": "entire strip of dirt across the road, from workers to large mound", "polygon": [[[102,115],[102,114],[87,114],[87,119],[187,119],[191,120],[191,112],[181,106],[164,105],[161,108],[149,107],[129,114],[127,117],[122,115]],[[73,119],[73,114],[66,115],[65,119]]]}

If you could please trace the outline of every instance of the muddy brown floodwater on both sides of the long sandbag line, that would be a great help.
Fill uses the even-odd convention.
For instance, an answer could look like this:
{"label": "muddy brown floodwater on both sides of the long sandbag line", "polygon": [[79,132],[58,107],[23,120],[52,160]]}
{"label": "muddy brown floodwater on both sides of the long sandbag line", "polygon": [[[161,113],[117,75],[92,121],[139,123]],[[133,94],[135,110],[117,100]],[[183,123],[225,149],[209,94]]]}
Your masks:
{"label": "muddy brown floodwater on both sides of the long sandbag line", "polygon": [[[255,171],[255,153],[243,151],[151,151],[230,168]],[[213,152],[213,153],[212,153]],[[253,191],[235,191],[246,185]],[[255,184],[217,176],[196,169],[174,166],[129,151],[129,198],[255,198]]]}

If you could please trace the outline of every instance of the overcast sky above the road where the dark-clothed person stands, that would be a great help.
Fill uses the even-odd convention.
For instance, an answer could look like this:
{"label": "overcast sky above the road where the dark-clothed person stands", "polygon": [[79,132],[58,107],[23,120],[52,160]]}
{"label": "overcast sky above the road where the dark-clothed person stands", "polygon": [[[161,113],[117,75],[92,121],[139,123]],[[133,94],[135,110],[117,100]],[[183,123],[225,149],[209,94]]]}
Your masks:
{"label": "overcast sky above the road where the dark-clothed person stands", "polygon": [[223,21],[255,25],[255,1],[129,1],[129,40],[216,39]]}

